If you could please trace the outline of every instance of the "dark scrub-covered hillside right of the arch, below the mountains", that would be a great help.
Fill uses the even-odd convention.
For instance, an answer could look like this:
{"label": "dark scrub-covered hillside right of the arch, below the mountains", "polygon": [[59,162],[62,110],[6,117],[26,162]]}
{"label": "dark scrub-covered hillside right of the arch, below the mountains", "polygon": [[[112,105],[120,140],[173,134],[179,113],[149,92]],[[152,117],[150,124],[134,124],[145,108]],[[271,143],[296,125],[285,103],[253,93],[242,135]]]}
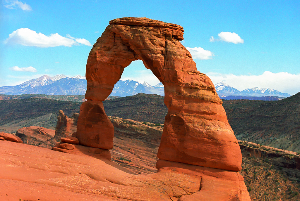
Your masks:
{"label": "dark scrub-covered hillside right of the arch, below the mountains", "polygon": [[280,101],[223,100],[239,140],[300,151],[300,93]]}

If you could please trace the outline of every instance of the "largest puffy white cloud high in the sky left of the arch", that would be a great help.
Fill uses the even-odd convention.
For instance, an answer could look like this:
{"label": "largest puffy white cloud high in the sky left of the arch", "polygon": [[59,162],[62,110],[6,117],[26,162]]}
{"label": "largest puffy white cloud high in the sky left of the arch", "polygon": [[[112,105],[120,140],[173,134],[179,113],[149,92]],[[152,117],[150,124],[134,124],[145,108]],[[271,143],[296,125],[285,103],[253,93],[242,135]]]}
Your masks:
{"label": "largest puffy white cloud high in the sky left of the arch", "polygon": [[[79,42],[76,40],[79,40]],[[88,40],[85,39],[63,37],[58,33],[46,36],[42,33],[32,31],[29,28],[19,28],[16,31],[13,31],[13,33],[9,34],[9,37],[5,40],[4,43],[35,47],[71,47],[72,45],[79,45],[79,43],[91,46],[91,43],[89,43]]]}

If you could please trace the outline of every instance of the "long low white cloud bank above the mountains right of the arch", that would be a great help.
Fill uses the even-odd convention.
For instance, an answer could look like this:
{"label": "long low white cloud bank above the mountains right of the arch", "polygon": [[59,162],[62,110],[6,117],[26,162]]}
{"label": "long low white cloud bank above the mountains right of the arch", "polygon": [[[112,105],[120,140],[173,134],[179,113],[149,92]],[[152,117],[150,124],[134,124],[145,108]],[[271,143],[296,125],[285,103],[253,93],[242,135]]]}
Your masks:
{"label": "long low white cloud bank above the mountains right of the arch", "polygon": [[292,95],[300,91],[300,74],[265,71],[261,75],[233,75],[214,72],[208,72],[206,75],[214,84],[224,81],[240,91],[253,87],[271,88]]}

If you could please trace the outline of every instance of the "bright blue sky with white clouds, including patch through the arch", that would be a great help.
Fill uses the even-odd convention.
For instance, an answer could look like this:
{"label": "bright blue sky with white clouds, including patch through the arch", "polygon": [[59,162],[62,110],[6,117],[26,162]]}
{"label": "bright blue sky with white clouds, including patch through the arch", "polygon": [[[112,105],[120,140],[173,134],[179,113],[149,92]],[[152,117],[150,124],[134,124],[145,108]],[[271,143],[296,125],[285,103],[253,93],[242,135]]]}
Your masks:
{"label": "bright blue sky with white clouds, including patch through the arch", "polygon": [[[36,1],[0,5],[0,86],[41,75],[85,75],[109,21],[147,17],[184,28],[197,69],[238,90],[300,91],[300,1]],[[159,81],[141,61],[122,79]]]}

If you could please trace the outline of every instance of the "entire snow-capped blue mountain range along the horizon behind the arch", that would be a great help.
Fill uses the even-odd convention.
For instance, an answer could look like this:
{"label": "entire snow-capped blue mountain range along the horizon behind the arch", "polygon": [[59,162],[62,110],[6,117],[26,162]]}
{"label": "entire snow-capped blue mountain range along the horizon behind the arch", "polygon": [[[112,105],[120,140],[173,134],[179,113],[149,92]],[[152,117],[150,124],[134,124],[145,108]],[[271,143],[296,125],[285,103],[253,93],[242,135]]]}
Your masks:
{"label": "entire snow-capped blue mountain range along the horizon behind the arch", "polygon": [[[76,75],[71,78],[68,78],[65,75],[55,75],[53,77],[43,75],[16,86],[0,87],[0,94],[84,95],[86,85],[87,81],[85,77],[81,75]],[[288,93],[281,93],[280,91],[270,88],[253,87],[251,89],[239,91],[224,82],[217,82],[215,88],[222,99],[279,100],[291,96]],[[164,85],[161,82],[155,86],[151,86],[145,81],[134,81],[130,79],[119,80],[115,84],[113,92],[110,95],[132,96],[138,93],[154,93],[164,96]],[[277,97],[274,98],[274,96]]]}

